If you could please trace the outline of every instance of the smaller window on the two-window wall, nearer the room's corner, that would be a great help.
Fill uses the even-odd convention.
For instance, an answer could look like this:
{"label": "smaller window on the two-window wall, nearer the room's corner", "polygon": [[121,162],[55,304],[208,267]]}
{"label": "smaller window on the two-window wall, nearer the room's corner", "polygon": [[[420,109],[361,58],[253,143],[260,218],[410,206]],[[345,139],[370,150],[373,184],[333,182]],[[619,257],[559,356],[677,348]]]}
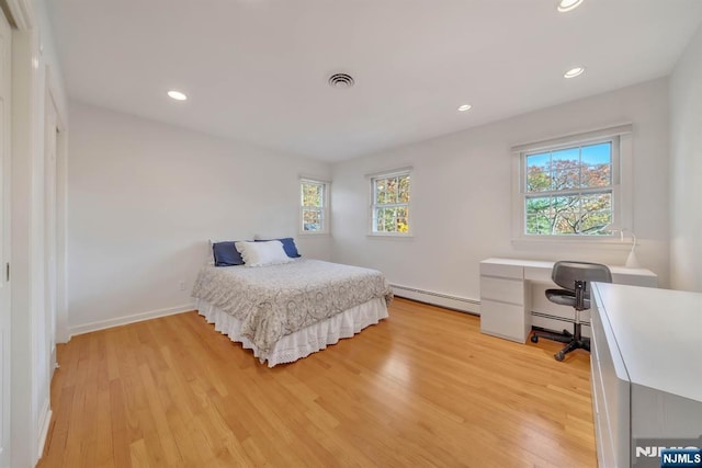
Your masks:
{"label": "smaller window on the two-window wall, nearer the room's corner", "polygon": [[409,236],[410,171],[371,178],[371,233]]}

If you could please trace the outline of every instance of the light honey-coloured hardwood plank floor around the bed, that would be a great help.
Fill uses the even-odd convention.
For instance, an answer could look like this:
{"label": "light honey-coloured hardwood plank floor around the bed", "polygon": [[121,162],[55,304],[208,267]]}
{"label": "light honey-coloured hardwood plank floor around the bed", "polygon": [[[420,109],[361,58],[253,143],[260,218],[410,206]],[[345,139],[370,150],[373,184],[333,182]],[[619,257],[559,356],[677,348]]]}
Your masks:
{"label": "light honey-coloured hardwood plank floor around the bed", "polygon": [[59,347],[38,466],[596,466],[589,356],[561,346],[405,299],[272,369],[196,312],[83,334]]}

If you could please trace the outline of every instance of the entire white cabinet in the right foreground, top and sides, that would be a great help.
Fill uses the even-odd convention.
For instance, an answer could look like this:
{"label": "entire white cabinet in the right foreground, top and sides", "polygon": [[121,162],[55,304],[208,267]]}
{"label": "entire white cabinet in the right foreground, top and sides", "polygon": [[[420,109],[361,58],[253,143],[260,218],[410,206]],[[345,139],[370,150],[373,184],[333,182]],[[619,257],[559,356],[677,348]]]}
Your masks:
{"label": "entire white cabinet in the right foreground, top and sides", "polygon": [[590,370],[600,467],[659,467],[700,446],[702,294],[595,283]]}

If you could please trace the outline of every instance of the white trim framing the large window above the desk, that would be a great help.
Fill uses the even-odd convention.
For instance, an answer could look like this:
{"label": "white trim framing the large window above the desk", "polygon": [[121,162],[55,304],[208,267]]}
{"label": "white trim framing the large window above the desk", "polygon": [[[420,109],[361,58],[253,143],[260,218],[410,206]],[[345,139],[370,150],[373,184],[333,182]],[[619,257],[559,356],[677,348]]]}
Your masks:
{"label": "white trim framing the large window above the desk", "polygon": [[619,233],[602,236],[587,235],[526,235],[524,213],[525,157],[539,151],[571,148],[595,142],[612,141],[612,222],[633,230],[632,226],[632,194],[633,194],[633,151],[632,151],[632,124],[624,124],[592,132],[567,135],[548,140],[535,141],[512,147],[512,243],[613,243],[619,242]]}

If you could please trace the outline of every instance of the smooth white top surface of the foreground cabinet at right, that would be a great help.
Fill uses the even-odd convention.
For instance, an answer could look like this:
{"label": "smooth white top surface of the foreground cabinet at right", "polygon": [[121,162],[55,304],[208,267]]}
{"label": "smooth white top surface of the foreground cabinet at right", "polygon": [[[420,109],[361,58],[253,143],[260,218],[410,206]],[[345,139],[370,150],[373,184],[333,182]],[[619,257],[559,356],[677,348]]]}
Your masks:
{"label": "smooth white top surface of the foreground cabinet at right", "polygon": [[702,294],[595,283],[632,384],[702,402]]}

